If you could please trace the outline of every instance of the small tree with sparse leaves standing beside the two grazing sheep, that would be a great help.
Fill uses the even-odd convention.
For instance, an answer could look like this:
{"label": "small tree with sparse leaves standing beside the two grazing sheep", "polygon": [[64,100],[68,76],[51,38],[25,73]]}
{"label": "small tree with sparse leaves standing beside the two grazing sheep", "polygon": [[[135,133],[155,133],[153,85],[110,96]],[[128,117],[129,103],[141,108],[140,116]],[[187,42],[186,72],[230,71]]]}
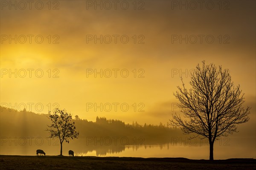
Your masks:
{"label": "small tree with sparse leaves standing beside the two grazing sheep", "polygon": [[47,125],[47,131],[49,131],[49,138],[57,138],[61,144],[61,156],[62,156],[62,143],[68,142],[70,139],[78,138],[79,132],[76,132],[75,122],[71,122],[72,115],[67,111],[56,108],[53,110],[53,114],[49,111],[49,119],[52,121],[51,125]]}

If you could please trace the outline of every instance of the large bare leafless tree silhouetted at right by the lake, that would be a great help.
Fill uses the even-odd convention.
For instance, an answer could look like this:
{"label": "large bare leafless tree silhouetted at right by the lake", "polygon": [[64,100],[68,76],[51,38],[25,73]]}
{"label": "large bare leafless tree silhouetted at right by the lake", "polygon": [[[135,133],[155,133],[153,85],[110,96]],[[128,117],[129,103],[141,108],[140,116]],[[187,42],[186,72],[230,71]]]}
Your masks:
{"label": "large bare leafless tree silhouetted at right by the lake", "polygon": [[[209,159],[213,160],[213,144],[220,136],[227,136],[237,131],[237,125],[249,120],[250,108],[244,109],[244,94],[240,85],[234,87],[228,70],[219,69],[214,64],[199,64],[192,72],[191,88],[182,87],[174,96],[179,99],[182,119],[173,115],[171,125],[181,128],[183,133],[196,133],[197,136],[209,139]],[[193,136],[197,137],[197,136]]]}

